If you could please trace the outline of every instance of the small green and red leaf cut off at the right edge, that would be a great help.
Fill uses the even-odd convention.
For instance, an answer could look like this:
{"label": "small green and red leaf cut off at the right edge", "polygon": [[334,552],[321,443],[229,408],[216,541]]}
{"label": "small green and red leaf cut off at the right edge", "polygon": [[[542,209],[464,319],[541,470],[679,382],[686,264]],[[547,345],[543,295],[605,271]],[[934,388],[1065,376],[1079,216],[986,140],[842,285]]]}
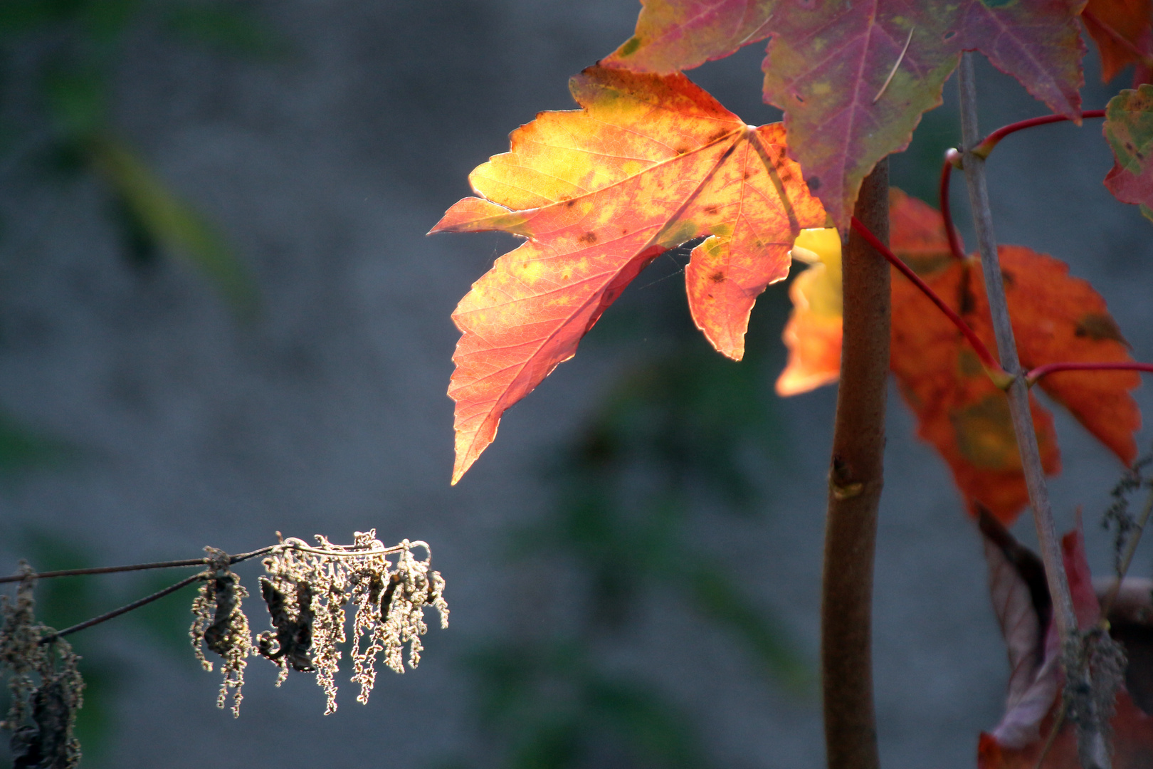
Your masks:
{"label": "small green and red leaf cut off at the right edge", "polygon": [[1105,110],[1105,140],[1113,150],[1113,171],[1105,186],[1122,203],[1141,206],[1153,219],[1153,85],[1124,90]]}

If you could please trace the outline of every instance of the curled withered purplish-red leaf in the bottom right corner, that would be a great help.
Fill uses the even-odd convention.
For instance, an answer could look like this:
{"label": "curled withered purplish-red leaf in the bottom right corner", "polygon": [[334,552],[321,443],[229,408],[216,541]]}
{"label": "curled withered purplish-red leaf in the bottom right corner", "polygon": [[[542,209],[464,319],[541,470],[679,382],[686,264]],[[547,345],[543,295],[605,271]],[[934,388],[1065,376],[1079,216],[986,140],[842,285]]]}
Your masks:
{"label": "curled withered purplish-red leaf in the bottom right corner", "polygon": [[[1027,548],[1020,545],[990,515],[982,514],[981,533],[989,567],[989,591],[1009,651],[1009,692],[1001,723],[978,742],[978,769],[1034,769],[1046,749],[1049,733],[1057,723],[1061,707],[1061,643],[1052,619],[1052,600],[1045,581],[1045,567]],[[1080,527],[1061,541],[1062,558],[1069,576],[1077,623],[1083,631],[1093,627],[1100,616],[1097,591],[1085,558]],[[1129,646],[1130,659],[1148,654],[1150,585],[1147,580],[1126,579],[1130,593],[1140,596],[1139,632],[1120,634]],[[1136,612],[1115,602],[1108,619],[1117,628],[1133,627]],[[1101,673],[1102,671],[1098,671]],[[1146,769],[1153,766],[1153,716],[1138,704],[1147,693],[1148,668],[1140,662],[1122,672],[1124,685],[1117,691],[1110,718],[1111,757],[1115,769]],[[1135,701],[1137,700],[1137,701]],[[1148,707],[1145,702],[1145,707]],[[1078,769],[1075,729],[1065,718],[1053,739],[1042,769]]]}

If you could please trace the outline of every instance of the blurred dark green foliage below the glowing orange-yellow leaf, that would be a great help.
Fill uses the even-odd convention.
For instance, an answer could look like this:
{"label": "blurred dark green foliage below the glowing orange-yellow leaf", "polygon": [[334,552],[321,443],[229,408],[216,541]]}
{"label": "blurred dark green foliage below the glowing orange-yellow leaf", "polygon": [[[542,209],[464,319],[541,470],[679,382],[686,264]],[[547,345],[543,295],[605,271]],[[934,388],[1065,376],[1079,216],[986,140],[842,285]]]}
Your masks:
{"label": "blurred dark green foliage below the glowing orange-yellow leaf", "polygon": [[746,359],[733,363],[688,321],[680,270],[666,277],[642,277],[586,340],[647,354],[544,468],[556,504],[511,534],[515,558],[580,575],[571,616],[470,657],[478,723],[506,769],[708,766],[692,714],[597,656],[628,635],[653,590],[729,633],[767,684],[811,692],[811,669],[787,629],[748,595],[749,580],[710,552],[716,543],[691,534],[704,511],[763,510],[766,468],[789,463],[771,384],[783,363],[771,329],[781,327],[784,292],[762,297]]}

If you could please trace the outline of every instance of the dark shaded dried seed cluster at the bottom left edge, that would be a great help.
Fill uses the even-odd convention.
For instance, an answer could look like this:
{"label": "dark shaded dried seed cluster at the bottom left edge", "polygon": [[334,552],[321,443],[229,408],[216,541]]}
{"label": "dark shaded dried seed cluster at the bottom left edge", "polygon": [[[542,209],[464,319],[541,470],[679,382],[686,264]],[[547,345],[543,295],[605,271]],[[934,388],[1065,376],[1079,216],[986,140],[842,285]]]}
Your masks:
{"label": "dark shaded dried seed cluster at the bottom left edge", "polygon": [[73,769],[81,757],[73,736],[83,704],[80,657],[67,641],[54,638],[53,628],[36,621],[36,578],[24,563],[21,571],[25,576],[16,600],[0,596],[0,670],[12,699],[0,727],[10,733],[13,769]]}

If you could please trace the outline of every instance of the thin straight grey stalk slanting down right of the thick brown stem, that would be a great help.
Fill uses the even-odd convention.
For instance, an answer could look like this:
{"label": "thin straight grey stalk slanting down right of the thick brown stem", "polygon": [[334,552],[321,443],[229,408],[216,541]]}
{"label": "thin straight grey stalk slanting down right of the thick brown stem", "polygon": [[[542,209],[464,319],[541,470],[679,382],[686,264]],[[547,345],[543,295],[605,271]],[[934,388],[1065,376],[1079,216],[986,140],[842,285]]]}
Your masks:
{"label": "thin straight grey stalk slanting down right of the thick brown stem", "polygon": [[[989,206],[988,187],[985,179],[985,158],[972,151],[978,143],[977,126],[977,82],[973,74],[973,58],[964,53],[960,60],[960,126],[962,140],[966,149],[963,166],[969,187],[970,209],[973,212],[973,224],[981,252],[981,266],[985,273],[985,289],[989,300],[989,311],[993,317],[993,330],[1001,356],[1001,368],[1011,377],[1012,383],[1007,390],[1009,412],[1012,416],[1013,432],[1017,436],[1017,447],[1020,452],[1022,469],[1025,485],[1028,489],[1030,503],[1033,507],[1033,520],[1037,525],[1041,560],[1045,563],[1045,575],[1053,596],[1053,618],[1058,638],[1062,640],[1063,669],[1067,686],[1075,691],[1092,691],[1090,671],[1084,656],[1071,654],[1080,648],[1077,615],[1073,611],[1072,595],[1069,591],[1069,579],[1062,560],[1061,544],[1053,522],[1053,511],[1049,507],[1049,493],[1045,482],[1045,470],[1041,467],[1041,455],[1037,445],[1037,430],[1028,404],[1028,387],[1020,374],[1020,361],[1017,357],[1017,342],[1013,339],[1009,307],[1005,302],[1004,282],[1001,277],[1001,265],[997,259],[996,236],[993,233],[993,213]],[[1092,698],[1085,698],[1082,704],[1085,718],[1078,719],[1077,747],[1084,769],[1108,769],[1109,751],[1099,723]]]}

